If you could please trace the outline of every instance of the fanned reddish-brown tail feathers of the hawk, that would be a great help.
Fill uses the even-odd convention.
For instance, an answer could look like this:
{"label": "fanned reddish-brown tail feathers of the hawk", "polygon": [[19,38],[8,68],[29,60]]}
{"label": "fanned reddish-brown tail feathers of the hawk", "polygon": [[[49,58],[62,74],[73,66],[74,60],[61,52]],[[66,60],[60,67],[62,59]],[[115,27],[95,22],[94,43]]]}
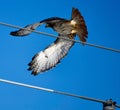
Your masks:
{"label": "fanned reddish-brown tail feathers of the hawk", "polygon": [[71,20],[76,22],[77,24],[77,35],[81,39],[82,42],[86,42],[86,38],[88,37],[87,26],[85,24],[85,20],[79,10],[77,8],[72,9]]}

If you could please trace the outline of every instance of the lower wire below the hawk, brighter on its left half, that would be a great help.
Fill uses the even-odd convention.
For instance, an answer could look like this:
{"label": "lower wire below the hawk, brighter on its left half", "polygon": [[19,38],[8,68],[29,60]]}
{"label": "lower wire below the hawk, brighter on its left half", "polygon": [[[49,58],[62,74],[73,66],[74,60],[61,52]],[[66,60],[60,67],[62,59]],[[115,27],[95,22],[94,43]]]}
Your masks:
{"label": "lower wire below the hawk, brighter on its left half", "polygon": [[[24,87],[28,87],[28,88],[33,88],[33,89],[37,89],[37,90],[42,90],[42,91],[56,93],[56,94],[61,94],[61,95],[66,95],[66,96],[71,96],[71,97],[75,97],[75,98],[81,98],[81,99],[84,99],[84,100],[90,100],[90,101],[99,102],[99,103],[105,103],[106,102],[104,100],[98,100],[98,99],[95,99],[95,98],[90,98],[90,97],[85,97],[85,96],[79,96],[79,95],[76,95],[76,94],[71,94],[71,93],[67,93],[67,92],[56,91],[56,90],[53,90],[53,89],[48,89],[48,88],[43,88],[43,87],[28,85],[28,84],[14,82],[14,81],[5,80],[5,79],[0,79],[0,82],[9,83],[9,84],[18,85],[18,86],[24,86]],[[120,108],[120,105],[115,105],[115,106],[118,107],[118,108]]]}

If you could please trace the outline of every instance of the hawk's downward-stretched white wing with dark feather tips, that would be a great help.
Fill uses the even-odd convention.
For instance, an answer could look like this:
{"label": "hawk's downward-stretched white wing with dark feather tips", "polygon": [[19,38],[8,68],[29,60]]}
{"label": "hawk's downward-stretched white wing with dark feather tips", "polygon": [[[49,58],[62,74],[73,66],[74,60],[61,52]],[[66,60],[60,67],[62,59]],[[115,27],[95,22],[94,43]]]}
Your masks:
{"label": "hawk's downward-stretched white wing with dark feather tips", "polygon": [[[62,37],[68,38],[68,36]],[[32,70],[32,74],[37,75],[55,67],[67,55],[73,44],[73,41],[58,38],[45,50],[40,51],[33,57],[32,61],[28,64],[30,66],[28,70]]]}

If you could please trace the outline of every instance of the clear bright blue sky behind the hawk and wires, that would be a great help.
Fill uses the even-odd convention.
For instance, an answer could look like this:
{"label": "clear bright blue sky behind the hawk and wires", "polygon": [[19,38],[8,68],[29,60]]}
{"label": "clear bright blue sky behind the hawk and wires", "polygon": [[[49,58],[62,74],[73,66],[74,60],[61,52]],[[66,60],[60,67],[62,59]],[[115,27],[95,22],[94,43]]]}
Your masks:
{"label": "clear bright blue sky behind the hawk and wires", "polygon": [[[25,26],[57,16],[70,19],[72,7],[85,18],[89,43],[120,49],[119,0],[1,0],[0,22]],[[32,33],[12,37],[16,29],[0,25],[0,78],[120,104],[120,54],[75,44],[56,68],[32,76],[27,64],[55,39]],[[39,31],[57,35],[52,29]],[[102,104],[0,83],[1,110],[102,110]],[[119,110],[119,109],[117,109]]]}

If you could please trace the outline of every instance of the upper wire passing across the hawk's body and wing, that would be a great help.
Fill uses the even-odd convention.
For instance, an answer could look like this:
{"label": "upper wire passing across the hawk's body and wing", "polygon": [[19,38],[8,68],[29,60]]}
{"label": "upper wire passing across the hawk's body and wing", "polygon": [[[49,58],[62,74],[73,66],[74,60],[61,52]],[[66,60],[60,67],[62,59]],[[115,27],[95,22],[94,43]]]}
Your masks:
{"label": "upper wire passing across the hawk's body and wing", "polygon": [[[12,25],[12,24],[4,23],[4,22],[0,22],[0,24],[4,25],[4,26],[12,27],[12,28],[25,29],[25,28],[22,28],[20,26],[15,26],[15,25]],[[46,33],[46,32],[40,32],[40,31],[37,31],[37,30],[34,30],[33,32],[37,33],[37,34],[43,34],[43,35],[46,35],[46,36],[54,37],[54,38],[59,38],[56,35],[49,34],[49,33]],[[78,40],[74,40],[74,39],[67,39],[67,38],[64,38],[64,37],[60,37],[60,38],[70,40],[70,41],[73,41],[73,42],[76,42],[76,43],[83,43],[82,41],[78,41]],[[88,46],[93,46],[93,47],[96,47],[96,48],[101,48],[101,49],[104,49],[104,50],[109,50],[109,51],[120,53],[120,50],[118,50],[118,49],[113,49],[113,48],[109,48],[109,47],[105,47],[105,46],[101,46],[101,45],[96,45],[96,44],[91,44],[91,43],[87,43],[87,42],[84,43],[84,44],[88,45]]]}

